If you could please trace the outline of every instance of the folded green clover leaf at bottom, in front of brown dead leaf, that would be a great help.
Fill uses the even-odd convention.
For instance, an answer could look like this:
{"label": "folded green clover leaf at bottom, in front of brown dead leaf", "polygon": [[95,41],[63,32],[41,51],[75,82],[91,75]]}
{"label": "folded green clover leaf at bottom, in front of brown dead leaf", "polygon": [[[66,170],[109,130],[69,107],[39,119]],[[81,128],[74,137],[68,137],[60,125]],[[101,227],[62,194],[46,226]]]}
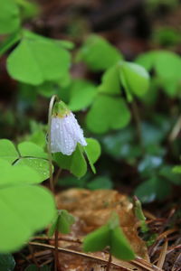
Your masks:
{"label": "folded green clover leaf at bottom, in front of brown dead leaf", "polygon": [[113,213],[106,225],[90,232],[83,240],[83,250],[86,252],[100,251],[106,247],[119,259],[131,260],[135,257],[128,239],[119,227],[119,217],[116,213]]}

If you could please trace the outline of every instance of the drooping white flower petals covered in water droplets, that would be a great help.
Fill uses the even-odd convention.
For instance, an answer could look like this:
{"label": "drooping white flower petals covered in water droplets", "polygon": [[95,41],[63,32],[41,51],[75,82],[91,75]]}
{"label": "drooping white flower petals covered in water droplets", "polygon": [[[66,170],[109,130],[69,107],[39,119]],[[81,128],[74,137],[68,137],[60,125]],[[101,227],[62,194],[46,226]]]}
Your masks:
{"label": "drooping white flower petals covered in water droplets", "polygon": [[51,125],[51,151],[71,155],[77,146],[87,145],[83,136],[83,131],[79,126],[77,119],[71,113],[66,112],[63,115],[53,115]]}

